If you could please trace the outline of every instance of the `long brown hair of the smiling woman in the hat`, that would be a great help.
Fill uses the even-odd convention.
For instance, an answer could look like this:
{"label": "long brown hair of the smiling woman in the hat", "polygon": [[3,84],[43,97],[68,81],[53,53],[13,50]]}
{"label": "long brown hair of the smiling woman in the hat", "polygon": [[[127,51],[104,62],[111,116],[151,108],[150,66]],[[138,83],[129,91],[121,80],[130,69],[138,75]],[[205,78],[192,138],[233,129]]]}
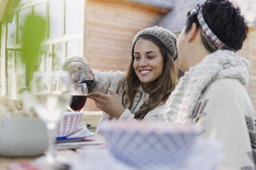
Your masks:
{"label": "long brown hair of the smiling woman in the hat", "polygon": [[[149,91],[149,99],[147,101],[144,101],[142,106],[140,106],[140,110],[134,113],[135,119],[143,119],[149,111],[156,108],[162,102],[164,103],[165,101],[167,101],[169,95],[171,95],[171,92],[175,88],[176,75],[173,66],[173,57],[171,56],[169,49],[167,49],[167,47],[155,36],[139,36],[134,42],[134,45],[132,46],[131,63],[129,65],[127,77],[122,84],[122,90],[124,91],[122,95],[123,105],[129,104],[129,109],[131,109],[131,106],[134,103],[134,97],[136,93],[139,92],[138,88],[141,84],[138,76],[134,71],[134,47],[138,39],[150,40],[151,42],[155,43],[159,47],[162,53],[162,57],[164,58],[164,68],[162,75],[160,75],[157,80],[152,82],[151,85],[147,87],[147,92]],[[126,99],[125,96],[127,97]]]}

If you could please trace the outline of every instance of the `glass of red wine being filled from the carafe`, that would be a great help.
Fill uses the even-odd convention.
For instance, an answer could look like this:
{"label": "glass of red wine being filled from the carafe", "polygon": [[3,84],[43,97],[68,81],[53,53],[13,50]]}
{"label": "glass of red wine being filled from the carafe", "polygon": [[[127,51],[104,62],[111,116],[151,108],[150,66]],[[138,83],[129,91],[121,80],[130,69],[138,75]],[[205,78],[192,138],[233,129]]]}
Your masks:
{"label": "glass of red wine being filled from the carafe", "polygon": [[85,106],[88,88],[86,83],[74,82],[71,84],[70,95],[72,95],[72,101],[70,108],[74,111],[80,111]]}

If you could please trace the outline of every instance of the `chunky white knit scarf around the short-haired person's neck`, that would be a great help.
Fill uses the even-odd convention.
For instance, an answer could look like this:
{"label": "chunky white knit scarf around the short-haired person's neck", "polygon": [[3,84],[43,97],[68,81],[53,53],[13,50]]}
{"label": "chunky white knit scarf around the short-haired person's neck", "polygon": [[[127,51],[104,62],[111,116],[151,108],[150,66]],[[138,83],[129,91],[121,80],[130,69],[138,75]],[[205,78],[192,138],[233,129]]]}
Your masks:
{"label": "chunky white knit scarf around the short-haired person's neck", "polygon": [[178,123],[191,123],[191,116],[202,91],[214,80],[223,77],[235,78],[248,84],[249,63],[237,53],[217,50],[204,57],[181,77],[179,84],[165,104],[163,119]]}

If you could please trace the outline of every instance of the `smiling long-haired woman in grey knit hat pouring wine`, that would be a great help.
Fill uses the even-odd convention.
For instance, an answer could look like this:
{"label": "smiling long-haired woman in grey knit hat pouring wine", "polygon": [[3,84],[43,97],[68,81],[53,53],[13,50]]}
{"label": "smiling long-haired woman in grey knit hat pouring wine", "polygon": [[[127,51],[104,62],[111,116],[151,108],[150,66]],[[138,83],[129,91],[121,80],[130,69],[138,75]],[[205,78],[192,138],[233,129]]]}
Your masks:
{"label": "smiling long-haired woman in grey knit hat pouring wine", "polygon": [[[160,121],[160,110],[175,86],[173,62],[177,58],[175,35],[155,26],[134,37],[127,73],[91,71],[98,81],[98,92],[87,97],[104,111],[97,132],[100,124],[110,119]],[[72,60],[85,62],[84,58]]]}

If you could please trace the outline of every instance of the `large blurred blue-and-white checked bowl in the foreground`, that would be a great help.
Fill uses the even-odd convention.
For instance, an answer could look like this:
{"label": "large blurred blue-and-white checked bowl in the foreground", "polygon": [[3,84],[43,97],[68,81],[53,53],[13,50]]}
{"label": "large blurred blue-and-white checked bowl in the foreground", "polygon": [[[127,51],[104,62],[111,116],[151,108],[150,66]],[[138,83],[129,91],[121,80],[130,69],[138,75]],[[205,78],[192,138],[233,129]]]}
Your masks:
{"label": "large blurred blue-and-white checked bowl in the foreground", "polygon": [[109,121],[102,124],[107,147],[116,158],[134,167],[164,167],[181,163],[190,154],[195,126]]}

